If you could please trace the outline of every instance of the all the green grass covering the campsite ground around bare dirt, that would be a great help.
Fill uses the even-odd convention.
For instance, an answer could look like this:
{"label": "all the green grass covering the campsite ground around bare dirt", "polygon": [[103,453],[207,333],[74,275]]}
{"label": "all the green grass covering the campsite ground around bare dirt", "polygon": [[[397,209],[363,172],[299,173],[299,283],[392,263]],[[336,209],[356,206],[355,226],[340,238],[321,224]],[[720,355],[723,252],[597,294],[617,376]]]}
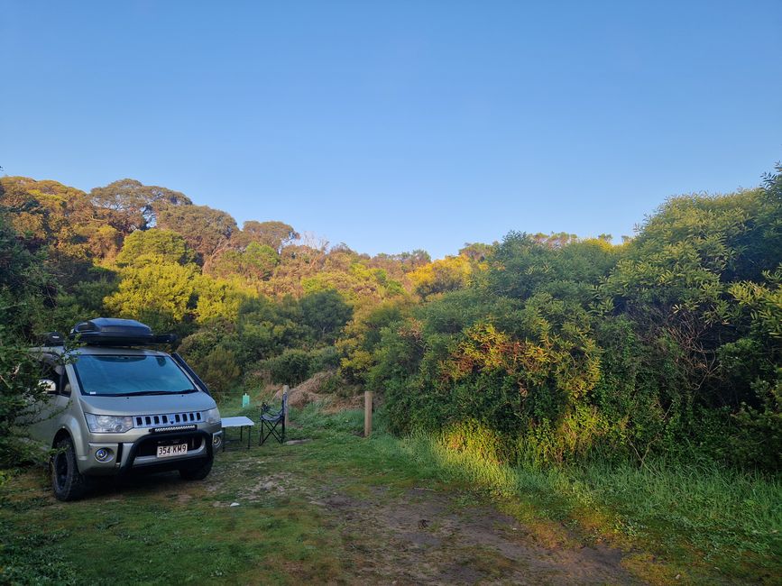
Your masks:
{"label": "all the green grass covering the campsite ground around bare dirt", "polygon": [[[238,402],[223,410],[241,411]],[[369,440],[356,433],[359,411],[311,406],[291,418],[292,438],[313,441],[249,452],[232,445],[205,482],[142,478],[60,503],[41,470],[15,476],[2,493],[0,582],[344,581],[372,537],[346,531],[317,503],[336,492],[404,498],[413,487],[454,495],[456,508],[491,501],[549,547],[621,547],[623,565],[654,583],[782,575],[777,480],[662,463],[511,468],[486,458],[480,438],[395,438],[382,413]]]}

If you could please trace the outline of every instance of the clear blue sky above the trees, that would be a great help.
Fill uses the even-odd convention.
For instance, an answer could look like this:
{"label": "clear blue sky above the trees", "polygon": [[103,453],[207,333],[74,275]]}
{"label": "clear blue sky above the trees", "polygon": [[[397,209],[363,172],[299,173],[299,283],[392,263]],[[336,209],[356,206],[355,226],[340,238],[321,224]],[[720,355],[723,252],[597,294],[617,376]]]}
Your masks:
{"label": "clear blue sky above the trees", "polygon": [[0,0],[0,165],[435,257],[782,159],[782,2]]}

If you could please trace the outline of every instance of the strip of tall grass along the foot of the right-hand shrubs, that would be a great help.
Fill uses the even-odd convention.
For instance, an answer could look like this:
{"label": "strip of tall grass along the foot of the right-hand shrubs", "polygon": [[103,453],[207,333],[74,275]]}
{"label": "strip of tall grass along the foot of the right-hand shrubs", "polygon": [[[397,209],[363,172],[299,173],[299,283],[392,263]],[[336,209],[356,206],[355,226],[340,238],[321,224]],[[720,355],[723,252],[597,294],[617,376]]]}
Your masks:
{"label": "strip of tall grass along the foot of the right-hand shrubs", "polygon": [[750,555],[761,565],[776,563],[778,568],[778,477],[696,462],[509,466],[497,458],[492,434],[473,425],[454,426],[439,435],[412,435],[384,448],[439,469],[444,479],[504,499],[528,500],[554,517],[600,525],[603,531],[655,545],[661,553],[681,553],[686,546],[708,562],[744,563]]}

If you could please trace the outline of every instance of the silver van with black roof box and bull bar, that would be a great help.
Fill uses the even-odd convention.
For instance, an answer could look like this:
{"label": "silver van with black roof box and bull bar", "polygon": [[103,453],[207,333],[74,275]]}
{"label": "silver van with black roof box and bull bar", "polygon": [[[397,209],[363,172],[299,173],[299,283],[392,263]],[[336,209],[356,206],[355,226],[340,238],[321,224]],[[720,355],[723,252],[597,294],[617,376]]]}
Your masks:
{"label": "silver van with black roof box and bull bar", "polygon": [[220,413],[206,385],[174,353],[143,346],[170,341],[134,320],[97,318],[71,332],[75,350],[33,348],[51,400],[30,435],[48,448],[60,500],[78,499],[91,477],[178,470],[201,480],[222,443]]}

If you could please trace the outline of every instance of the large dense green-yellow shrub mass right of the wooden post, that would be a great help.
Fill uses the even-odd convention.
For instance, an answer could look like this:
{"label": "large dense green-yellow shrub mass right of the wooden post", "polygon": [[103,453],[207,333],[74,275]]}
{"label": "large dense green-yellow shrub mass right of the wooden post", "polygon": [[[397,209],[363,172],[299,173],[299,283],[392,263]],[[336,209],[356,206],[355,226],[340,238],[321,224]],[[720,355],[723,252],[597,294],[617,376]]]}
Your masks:
{"label": "large dense green-yellow shrub mass right of the wooden post", "polygon": [[674,197],[622,246],[509,234],[470,288],[382,330],[391,427],[469,423],[510,461],[778,470],[779,186]]}

